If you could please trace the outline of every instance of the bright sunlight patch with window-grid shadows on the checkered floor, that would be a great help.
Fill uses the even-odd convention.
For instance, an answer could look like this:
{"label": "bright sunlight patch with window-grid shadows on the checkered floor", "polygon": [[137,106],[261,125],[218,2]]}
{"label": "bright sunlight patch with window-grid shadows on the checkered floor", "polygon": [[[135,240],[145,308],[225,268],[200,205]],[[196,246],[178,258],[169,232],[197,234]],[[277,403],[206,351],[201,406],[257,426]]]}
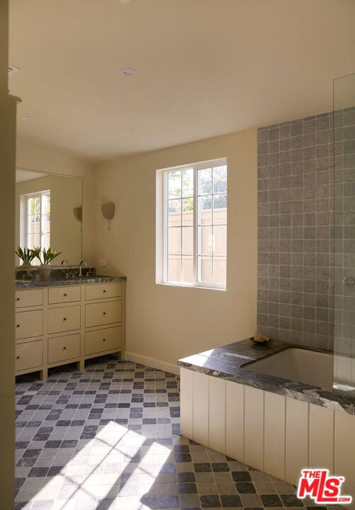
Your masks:
{"label": "bright sunlight patch with window-grid shadows on the checkered floor", "polygon": [[[132,508],[133,499],[137,499],[138,509],[149,508],[140,503],[140,499],[150,491],[171,449],[154,442],[146,447],[147,451],[140,462],[133,463],[146,440],[145,436],[110,421],[58,475],[38,490],[30,502],[23,506],[23,510],[29,510],[33,502],[38,500],[56,500],[54,510],[72,510],[77,499],[80,499],[81,505],[86,505],[87,510],[96,510],[105,498],[119,501],[122,510],[126,506]],[[83,465],[84,458],[89,463]],[[130,487],[125,485],[128,479]],[[137,492],[132,489],[135,480]],[[58,500],[63,486],[67,486],[67,499]],[[105,506],[105,509],[115,509],[116,502],[111,507]]]}

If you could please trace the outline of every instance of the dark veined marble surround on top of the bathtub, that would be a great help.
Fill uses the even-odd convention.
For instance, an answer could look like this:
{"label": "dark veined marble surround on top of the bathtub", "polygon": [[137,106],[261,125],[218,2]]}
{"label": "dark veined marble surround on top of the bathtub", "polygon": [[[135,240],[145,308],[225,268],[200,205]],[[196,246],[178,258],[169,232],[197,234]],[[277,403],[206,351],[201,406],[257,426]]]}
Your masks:
{"label": "dark veined marble surround on top of the bathtub", "polygon": [[[303,348],[276,340],[271,340],[269,344],[254,344],[247,339],[180,359],[178,365],[195,372],[213,375],[213,377],[240,382],[259,390],[355,414],[355,396],[345,395],[337,390],[325,390],[306,385],[303,382],[281,379],[273,375],[251,372],[244,366],[290,347]],[[320,349],[313,350],[332,354]]]}

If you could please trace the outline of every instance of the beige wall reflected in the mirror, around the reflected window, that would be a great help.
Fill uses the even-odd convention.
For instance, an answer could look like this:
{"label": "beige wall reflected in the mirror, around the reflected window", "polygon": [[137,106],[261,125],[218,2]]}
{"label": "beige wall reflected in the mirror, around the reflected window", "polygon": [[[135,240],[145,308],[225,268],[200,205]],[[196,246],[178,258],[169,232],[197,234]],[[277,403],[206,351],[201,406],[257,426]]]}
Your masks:
{"label": "beige wall reflected in the mirror, around the reflected window", "polygon": [[50,246],[61,252],[53,265],[62,259],[67,259],[69,264],[78,264],[81,259],[81,223],[74,217],[74,208],[80,207],[83,200],[82,179],[72,176],[49,175],[16,184],[15,246],[23,246],[20,243],[21,195],[45,190],[50,190]]}

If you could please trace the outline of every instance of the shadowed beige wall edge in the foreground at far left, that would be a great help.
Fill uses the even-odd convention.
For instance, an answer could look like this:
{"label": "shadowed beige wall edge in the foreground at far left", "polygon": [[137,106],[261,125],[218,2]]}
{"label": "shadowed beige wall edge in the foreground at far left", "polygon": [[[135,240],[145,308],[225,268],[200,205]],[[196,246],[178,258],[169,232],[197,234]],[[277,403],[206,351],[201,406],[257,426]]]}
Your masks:
{"label": "shadowed beige wall edge in the foreground at far left", "polygon": [[9,4],[0,1],[0,508],[13,508],[15,432],[15,350],[13,243],[15,235],[16,103],[8,94]]}

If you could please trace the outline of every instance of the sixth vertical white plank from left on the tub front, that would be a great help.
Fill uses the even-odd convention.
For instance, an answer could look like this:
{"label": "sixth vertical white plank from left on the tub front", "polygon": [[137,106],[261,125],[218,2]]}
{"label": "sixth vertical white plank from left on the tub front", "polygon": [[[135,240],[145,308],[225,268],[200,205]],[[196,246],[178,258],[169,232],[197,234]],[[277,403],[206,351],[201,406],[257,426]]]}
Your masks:
{"label": "sixth vertical white plank from left on the tub front", "polygon": [[285,477],[285,412],[282,395],[264,392],[264,471]]}

